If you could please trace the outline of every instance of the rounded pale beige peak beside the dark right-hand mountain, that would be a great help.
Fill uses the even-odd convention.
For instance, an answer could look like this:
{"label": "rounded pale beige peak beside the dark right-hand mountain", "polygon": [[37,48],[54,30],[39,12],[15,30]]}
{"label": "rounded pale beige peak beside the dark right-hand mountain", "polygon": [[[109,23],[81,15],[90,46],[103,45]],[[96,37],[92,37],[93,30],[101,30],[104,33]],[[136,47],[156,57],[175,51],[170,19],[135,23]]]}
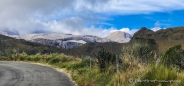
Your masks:
{"label": "rounded pale beige peak beside the dark right-hand mountain", "polygon": [[111,39],[112,41],[115,41],[118,43],[127,43],[131,40],[132,36],[129,33],[125,33],[122,31],[116,31],[108,35],[105,38]]}

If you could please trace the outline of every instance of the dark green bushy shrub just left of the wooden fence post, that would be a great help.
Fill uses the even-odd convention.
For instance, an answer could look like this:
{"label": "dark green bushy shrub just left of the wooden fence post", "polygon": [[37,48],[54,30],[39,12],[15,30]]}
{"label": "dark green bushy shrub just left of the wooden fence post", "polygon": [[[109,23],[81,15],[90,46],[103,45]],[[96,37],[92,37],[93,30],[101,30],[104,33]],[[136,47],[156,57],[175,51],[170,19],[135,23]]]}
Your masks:
{"label": "dark green bushy shrub just left of the wooden fence post", "polygon": [[106,71],[106,69],[116,63],[116,56],[113,53],[106,51],[105,49],[100,50],[97,54],[94,54],[98,60],[98,66],[101,71]]}

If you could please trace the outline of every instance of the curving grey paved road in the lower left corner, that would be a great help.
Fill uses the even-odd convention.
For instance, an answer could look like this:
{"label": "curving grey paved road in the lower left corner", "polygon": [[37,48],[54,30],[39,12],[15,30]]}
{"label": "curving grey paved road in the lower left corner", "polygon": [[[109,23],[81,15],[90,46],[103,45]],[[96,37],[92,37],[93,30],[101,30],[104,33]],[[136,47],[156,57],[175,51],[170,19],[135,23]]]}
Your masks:
{"label": "curving grey paved road in the lower left corner", "polygon": [[0,61],[0,86],[74,86],[64,73],[26,62]]}

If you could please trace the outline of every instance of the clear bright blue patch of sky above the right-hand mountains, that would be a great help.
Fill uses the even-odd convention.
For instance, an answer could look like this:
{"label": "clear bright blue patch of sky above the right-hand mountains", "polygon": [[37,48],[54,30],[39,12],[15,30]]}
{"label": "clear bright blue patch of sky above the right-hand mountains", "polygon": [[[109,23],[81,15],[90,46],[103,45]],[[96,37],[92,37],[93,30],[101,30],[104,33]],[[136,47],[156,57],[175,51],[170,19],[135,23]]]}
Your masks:
{"label": "clear bright blue patch of sky above the right-hand mountains", "polygon": [[153,28],[169,28],[184,26],[184,10],[176,10],[172,12],[153,12],[150,14],[133,14],[133,15],[116,15],[110,16],[112,20],[104,22],[110,25],[102,25],[103,27],[115,27],[118,29],[130,28],[136,29],[141,27]]}

